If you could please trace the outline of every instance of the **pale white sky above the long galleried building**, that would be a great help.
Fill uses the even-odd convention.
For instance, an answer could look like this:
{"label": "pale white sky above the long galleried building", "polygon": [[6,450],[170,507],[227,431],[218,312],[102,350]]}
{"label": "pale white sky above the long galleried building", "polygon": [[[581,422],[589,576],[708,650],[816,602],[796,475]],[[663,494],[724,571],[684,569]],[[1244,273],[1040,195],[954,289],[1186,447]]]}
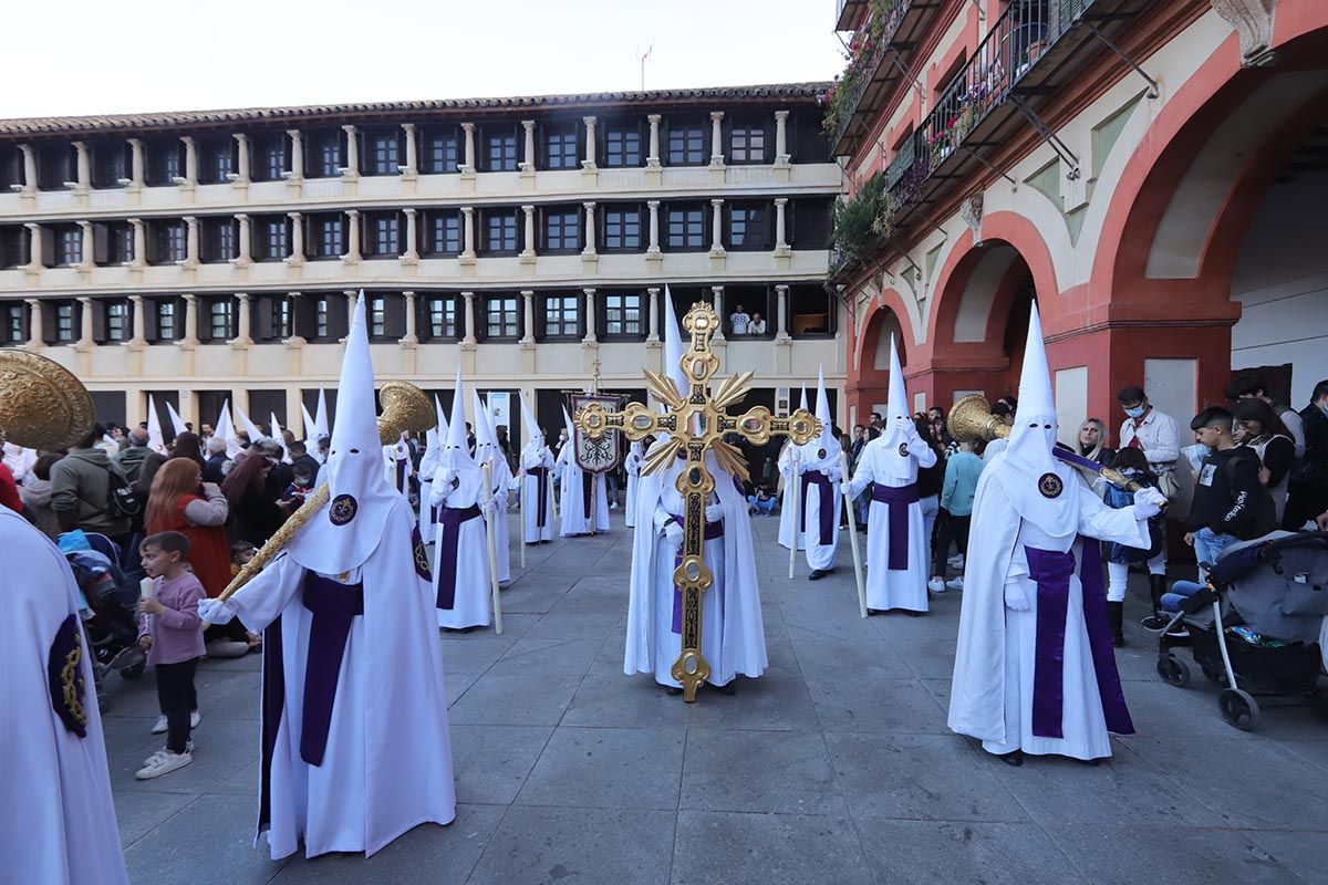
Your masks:
{"label": "pale white sky above the long galleried building", "polygon": [[647,49],[647,89],[829,80],[843,65],[835,0],[8,5],[4,118],[627,90]]}

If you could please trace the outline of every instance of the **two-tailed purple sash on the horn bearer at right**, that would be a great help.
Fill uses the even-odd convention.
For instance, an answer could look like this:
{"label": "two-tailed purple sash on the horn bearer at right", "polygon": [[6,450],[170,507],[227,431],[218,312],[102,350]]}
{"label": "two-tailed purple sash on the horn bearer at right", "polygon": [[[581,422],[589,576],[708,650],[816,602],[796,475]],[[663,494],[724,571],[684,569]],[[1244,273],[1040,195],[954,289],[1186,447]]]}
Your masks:
{"label": "two-tailed purple sash on the horn bearer at right", "polygon": [[[1094,555],[1089,548],[1097,549]],[[1112,633],[1106,622],[1106,590],[1102,586],[1101,549],[1096,543],[1085,551],[1082,576],[1084,624],[1093,654],[1093,670],[1108,731],[1134,734],[1130,713],[1125,707],[1121,677],[1112,651]],[[1038,738],[1064,738],[1065,709],[1065,617],[1069,609],[1070,576],[1074,575],[1074,552],[1042,551],[1025,547],[1029,577],[1037,584],[1037,638],[1033,661],[1033,734]],[[1090,561],[1092,560],[1092,561]],[[1096,577],[1094,577],[1096,576]],[[1100,649],[1098,646],[1105,642]]]}

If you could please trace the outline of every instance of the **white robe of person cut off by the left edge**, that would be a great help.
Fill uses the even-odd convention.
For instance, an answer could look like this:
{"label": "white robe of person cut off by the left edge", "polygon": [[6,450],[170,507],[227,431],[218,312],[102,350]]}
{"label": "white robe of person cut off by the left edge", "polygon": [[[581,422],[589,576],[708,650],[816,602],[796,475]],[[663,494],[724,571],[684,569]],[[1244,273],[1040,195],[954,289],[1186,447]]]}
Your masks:
{"label": "white robe of person cut off by the left edge", "polygon": [[[125,885],[92,646],[78,620],[78,586],[58,548],[4,506],[0,551],[5,564],[0,590],[4,881]],[[57,636],[62,637],[58,644]],[[46,669],[52,655],[62,658],[73,647],[76,637],[82,649],[82,738],[57,714]]]}

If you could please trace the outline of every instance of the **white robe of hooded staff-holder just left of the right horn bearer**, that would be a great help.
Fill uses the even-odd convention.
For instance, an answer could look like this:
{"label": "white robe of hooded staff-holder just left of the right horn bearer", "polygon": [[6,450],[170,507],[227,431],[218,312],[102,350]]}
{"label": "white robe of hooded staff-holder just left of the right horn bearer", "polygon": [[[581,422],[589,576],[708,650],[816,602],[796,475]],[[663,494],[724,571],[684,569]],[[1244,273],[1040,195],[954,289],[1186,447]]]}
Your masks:
{"label": "white robe of hooded staff-holder just left of the right horn bearer", "polygon": [[[888,441],[888,442],[887,442]],[[871,483],[899,488],[918,483],[918,468],[936,463],[936,452],[922,441],[900,446],[888,434],[876,437],[862,448],[858,467],[849,483],[849,496]],[[928,539],[924,532],[922,503],[908,507],[908,568],[890,568],[890,504],[872,499],[867,508],[867,608],[878,612],[904,609],[927,610],[927,573],[931,571]]]}

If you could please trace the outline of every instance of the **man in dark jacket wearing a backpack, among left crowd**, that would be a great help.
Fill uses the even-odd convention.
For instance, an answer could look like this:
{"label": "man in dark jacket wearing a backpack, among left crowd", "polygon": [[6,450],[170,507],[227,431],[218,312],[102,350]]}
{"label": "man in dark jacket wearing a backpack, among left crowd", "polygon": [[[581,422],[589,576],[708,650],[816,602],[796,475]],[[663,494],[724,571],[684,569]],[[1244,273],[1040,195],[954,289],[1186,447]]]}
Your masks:
{"label": "man in dark jacket wearing a backpack, among left crowd", "polygon": [[101,425],[78,441],[50,468],[50,508],[64,532],[81,528],[105,535],[121,549],[129,543],[131,510],[137,503],[120,467],[96,446]]}

